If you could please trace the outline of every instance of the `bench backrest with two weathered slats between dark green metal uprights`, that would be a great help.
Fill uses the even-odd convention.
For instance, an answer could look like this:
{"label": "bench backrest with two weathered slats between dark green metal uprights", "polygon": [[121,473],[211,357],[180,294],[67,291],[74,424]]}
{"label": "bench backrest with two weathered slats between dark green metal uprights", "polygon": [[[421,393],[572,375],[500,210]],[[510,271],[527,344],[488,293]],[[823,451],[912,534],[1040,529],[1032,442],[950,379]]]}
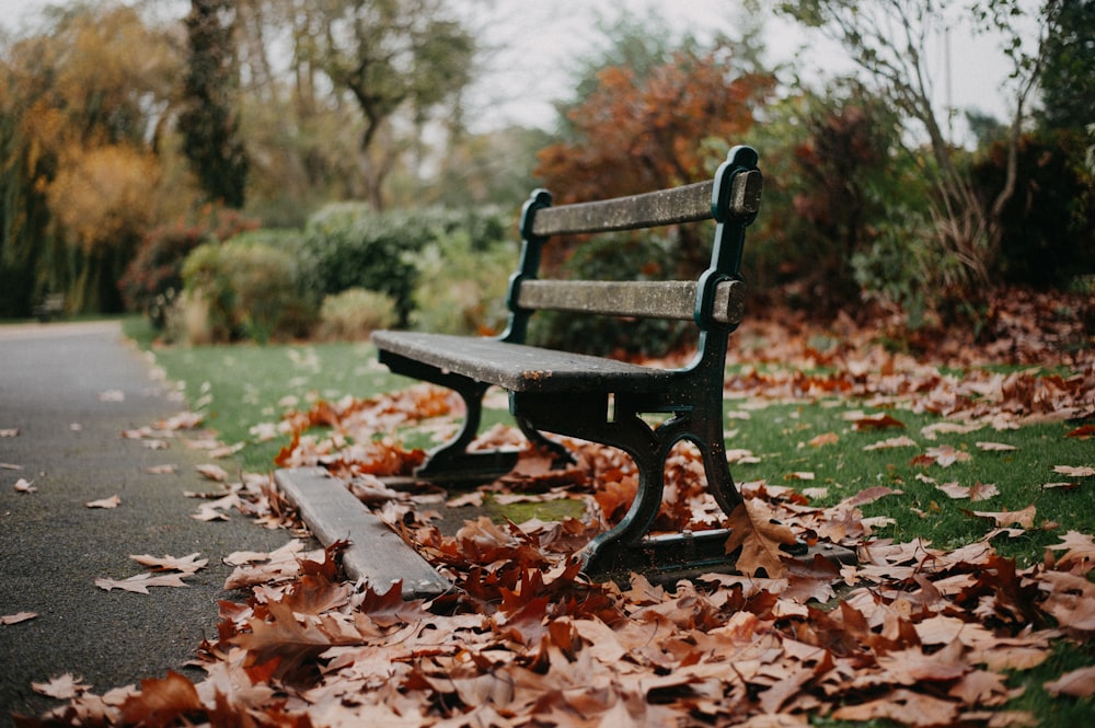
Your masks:
{"label": "bench backrest with two weathered slats between dark green metal uprights", "polygon": [[[502,338],[521,343],[535,310],[576,311],[644,319],[692,320],[701,332],[729,333],[740,322],[745,285],[739,266],[745,228],[760,208],[762,176],[757,152],[735,147],[713,180],[619,197],[552,206],[544,189],[521,212],[521,258],[510,277],[510,322]],[[711,265],[698,280],[541,280],[540,253],[555,235],[657,228],[714,219]],[[725,345],[725,336],[724,345]]]}

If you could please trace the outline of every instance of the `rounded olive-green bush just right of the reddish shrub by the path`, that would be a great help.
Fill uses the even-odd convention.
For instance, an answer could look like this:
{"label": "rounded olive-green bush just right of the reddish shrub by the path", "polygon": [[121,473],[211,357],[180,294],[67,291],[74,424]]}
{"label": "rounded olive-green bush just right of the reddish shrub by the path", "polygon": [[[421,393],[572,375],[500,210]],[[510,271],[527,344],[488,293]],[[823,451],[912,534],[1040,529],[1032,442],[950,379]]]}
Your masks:
{"label": "rounded olive-green bush just right of the reddish shrub by the path", "polygon": [[300,336],[315,320],[314,299],[303,290],[295,258],[268,245],[201,245],[187,256],[183,281],[208,307],[215,340]]}

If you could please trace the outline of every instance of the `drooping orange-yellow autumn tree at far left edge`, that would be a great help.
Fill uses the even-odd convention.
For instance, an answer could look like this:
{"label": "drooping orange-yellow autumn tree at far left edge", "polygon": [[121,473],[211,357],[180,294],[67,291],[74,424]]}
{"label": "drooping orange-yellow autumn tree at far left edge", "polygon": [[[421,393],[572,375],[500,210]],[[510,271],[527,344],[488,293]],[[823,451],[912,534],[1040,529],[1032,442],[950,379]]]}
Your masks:
{"label": "drooping orange-yellow autumn tree at far left edge", "polygon": [[[150,206],[161,215],[168,204],[155,150],[178,74],[173,45],[131,8],[76,4],[50,9],[39,31],[4,45],[2,60],[0,310],[26,315],[46,291],[67,293],[73,310],[117,310],[115,279],[140,231],[119,234],[125,226],[100,213],[139,226]],[[135,169],[139,182],[124,182]]]}

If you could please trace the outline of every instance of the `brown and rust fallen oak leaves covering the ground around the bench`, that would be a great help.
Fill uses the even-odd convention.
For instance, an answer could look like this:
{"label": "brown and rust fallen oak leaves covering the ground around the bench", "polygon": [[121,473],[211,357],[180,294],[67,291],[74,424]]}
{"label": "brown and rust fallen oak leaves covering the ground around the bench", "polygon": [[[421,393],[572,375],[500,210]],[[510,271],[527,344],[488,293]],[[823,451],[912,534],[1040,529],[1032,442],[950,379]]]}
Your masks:
{"label": "brown and rust fallen oak leaves covering the ground around the bench", "polygon": [[[764,331],[758,325],[748,335]],[[854,337],[849,332],[845,340]],[[998,426],[1090,418],[1095,408],[1091,355],[1073,361],[1069,375],[953,375],[877,347],[822,353],[806,332],[784,333],[779,342],[766,350],[791,366],[753,360],[728,381],[728,396],[856,396]],[[800,366],[807,361],[812,366]],[[791,488],[746,484],[747,508],[729,519],[741,546],[740,575],[667,587],[639,575],[622,586],[590,582],[573,555],[620,518],[634,492],[634,470],[615,451],[572,442],[574,467],[552,471],[527,451],[492,489],[495,497],[581,498],[585,519],[503,525],[480,519],[446,535],[434,522],[434,511],[446,508],[443,496],[391,490],[379,477],[406,474],[423,457],[385,434],[452,407],[442,391],[422,385],[369,401],[320,403],[286,420],[293,443],[279,459],[320,463],[350,482],[453,579],[451,592],[404,602],[397,586],[378,591],[342,580],[341,544],[302,553],[295,541],[274,554],[234,555],[239,566],[226,586],[246,589],[247,597],[221,602],[218,638],[199,649],[204,681],[170,673],[104,695],[78,686],[76,697],[44,720],[769,728],[825,716],[924,727],[1034,726],[1037,716],[1003,707],[1023,692],[1010,675],[1041,665],[1053,645],[1085,643],[1095,633],[1092,535],[1065,533],[1041,563],[1024,569],[988,541],[953,552],[922,541],[894,543],[873,536],[877,522],[861,510],[892,493],[885,487],[820,508]],[[331,429],[310,435],[315,425]],[[488,439],[522,447],[508,430]],[[675,451],[658,528],[725,522],[696,485],[701,472],[694,451]],[[268,487],[238,487],[232,495],[268,522],[286,518]],[[853,546],[858,564],[785,559],[779,545],[794,536]],[[1090,700],[1095,667],[1044,687]]]}

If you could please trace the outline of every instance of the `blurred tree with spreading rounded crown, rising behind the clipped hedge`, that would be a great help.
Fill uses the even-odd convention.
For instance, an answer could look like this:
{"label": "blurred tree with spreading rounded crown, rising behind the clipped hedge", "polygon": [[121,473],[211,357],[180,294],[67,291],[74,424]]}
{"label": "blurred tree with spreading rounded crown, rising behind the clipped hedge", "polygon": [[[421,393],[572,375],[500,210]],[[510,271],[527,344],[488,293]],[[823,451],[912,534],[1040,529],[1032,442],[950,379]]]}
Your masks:
{"label": "blurred tree with spreading rounded crown, rising behind the clipped hedge", "polygon": [[[373,207],[400,148],[396,119],[418,130],[439,107],[459,107],[475,41],[441,0],[326,0],[300,54],[361,113],[358,173]],[[402,116],[401,116],[402,115]]]}

